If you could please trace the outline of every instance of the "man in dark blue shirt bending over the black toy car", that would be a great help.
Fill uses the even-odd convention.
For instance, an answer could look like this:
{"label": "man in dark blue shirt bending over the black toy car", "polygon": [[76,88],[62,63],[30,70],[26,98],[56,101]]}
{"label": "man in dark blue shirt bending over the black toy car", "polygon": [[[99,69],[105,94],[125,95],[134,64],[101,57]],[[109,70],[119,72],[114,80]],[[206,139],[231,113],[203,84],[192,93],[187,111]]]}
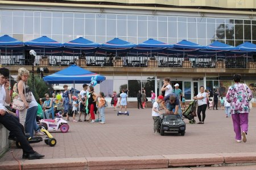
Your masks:
{"label": "man in dark blue shirt bending over the black toy car", "polygon": [[[167,107],[165,105],[166,102]],[[167,114],[179,114],[180,117],[182,118],[180,100],[175,93],[164,96],[164,100],[162,101],[161,105]]]}

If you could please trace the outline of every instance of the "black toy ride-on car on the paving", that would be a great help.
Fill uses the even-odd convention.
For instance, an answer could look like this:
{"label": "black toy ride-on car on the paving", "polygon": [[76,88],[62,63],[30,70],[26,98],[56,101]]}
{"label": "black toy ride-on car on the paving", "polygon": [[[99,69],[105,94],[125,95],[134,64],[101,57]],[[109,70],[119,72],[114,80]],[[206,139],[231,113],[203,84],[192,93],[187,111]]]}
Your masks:
{"label": "black toy ride-on car on the paving", "polygon": [[186,124],[179,114],[163,114],[160,120],[160,134],[164,131],[177,131],[181,136],[185,135]]}

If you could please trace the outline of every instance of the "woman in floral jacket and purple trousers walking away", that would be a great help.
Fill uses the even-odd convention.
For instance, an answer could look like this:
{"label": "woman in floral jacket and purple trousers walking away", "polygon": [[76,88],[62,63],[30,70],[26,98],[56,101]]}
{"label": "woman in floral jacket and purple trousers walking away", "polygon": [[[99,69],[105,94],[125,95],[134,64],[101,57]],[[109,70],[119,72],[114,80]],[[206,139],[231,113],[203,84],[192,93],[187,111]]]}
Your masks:
{"label": "woman in floral jacket and purple trousers walking away", "polygon": [[[234,82],[232,86],[229,87],[228,93],[226,94],[226,100],[230,103],[232,114],[234,132],[236,133],[236,140],[238,143],[241,142],[241,129],[243,142],[246,142],[246,134],[248,130],[248,114],[249,114],[249,101],[252,99],[250,88],[243,83],[240,83],[241,75],[234,75]],[[247,94],[249,99],[247,99]]]}

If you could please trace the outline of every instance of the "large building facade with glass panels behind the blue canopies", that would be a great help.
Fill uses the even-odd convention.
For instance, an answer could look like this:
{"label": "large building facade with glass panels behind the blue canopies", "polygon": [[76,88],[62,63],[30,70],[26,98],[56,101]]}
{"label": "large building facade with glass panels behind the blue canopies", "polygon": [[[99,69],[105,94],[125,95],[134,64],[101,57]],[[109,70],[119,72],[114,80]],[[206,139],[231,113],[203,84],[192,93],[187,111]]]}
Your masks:
{"label": "large building facade with glass panels behind the blue canopies", "polygon": [[[139,44],[155,39],[168,44],[188,40],[208,45],[214,40],[237,46],[245,41],[256,44],[256,13],[254,1],[1,1],[0,35],[20,41],[48,36],[59,42],[77,37],[105,43],[115,37]],[[250,4],[250,5],[249,5]],[[161,57],[158,55],[158,61]],[[204,59],[205,56],[201,57]],[[5,56],[1,53],[1,58]],[[137,58],[136,58],[137,59]],[[244,60],[245,61],[245,60]],[[9,66],[12,74],[16,67]],[[50,73],[59,70],[49,66]],[[142,87],[150,97],[153,90],[160,94],[162,79],[171,77],[180,84],[187,100],[204,86],[211,92],[219,89],[225,95],[232,84],[232,75],[241,73],[243,81],[256,83],[256,69],[204,69],[164,67],[86,67],[106,76],[96,90],[105,95],[128,88],[129,100],[136,100]],[[77,85],[81,86],[81,85]]]}

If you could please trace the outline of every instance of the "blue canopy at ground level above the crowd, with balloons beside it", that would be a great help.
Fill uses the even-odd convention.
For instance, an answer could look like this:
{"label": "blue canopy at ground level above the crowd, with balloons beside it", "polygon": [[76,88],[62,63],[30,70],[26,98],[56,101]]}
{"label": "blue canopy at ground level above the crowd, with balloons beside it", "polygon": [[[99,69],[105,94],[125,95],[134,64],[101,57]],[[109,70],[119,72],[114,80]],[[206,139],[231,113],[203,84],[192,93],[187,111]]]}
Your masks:
{"label": "blue canopy at ground level above the crowd, with balloons beside it", "polygon": [[92,77],[94,76],[97,76],[97,79],[96,79],[97,83],[103,82],[105,80],[105,76],[92,73],[76,65],[71,65],[66,69],[63,69],[51,75],[45,76],[43,80],[44,82],[47,82],[49,84],[55,84],[55,83],[82,84],[82,83],[90,83],[92,81],[91,80]]}

